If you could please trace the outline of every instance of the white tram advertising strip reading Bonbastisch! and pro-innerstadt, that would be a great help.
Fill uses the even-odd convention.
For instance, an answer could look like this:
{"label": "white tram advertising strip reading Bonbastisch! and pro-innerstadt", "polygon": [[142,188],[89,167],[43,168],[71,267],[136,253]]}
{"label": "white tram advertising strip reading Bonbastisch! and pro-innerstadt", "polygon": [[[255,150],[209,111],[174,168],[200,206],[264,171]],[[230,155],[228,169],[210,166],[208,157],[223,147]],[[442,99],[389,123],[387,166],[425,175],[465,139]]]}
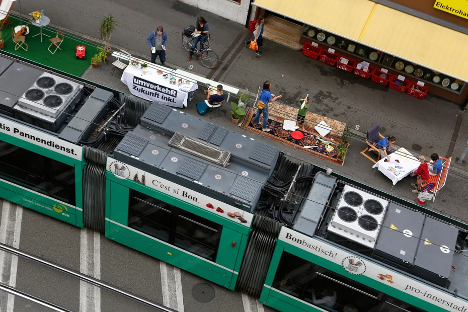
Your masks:
{"label": "white tram advertising strip reading Bonbastisch! and pro-innerstadt", "polygon": [[332,261],[343,267],[345,271],[355,275],[364,275],[381,283],[385,283],[395,289],[437,305],[447,311],[466,312],[468,302],[455,298],[452,295],[423,284],[396,271],[379,266],[369,260],[363,260],[351,253],[345,252],[334,246],[326,244],[287,227],[282,227],[279,234],[280,241],[301,248],[311,254]]}

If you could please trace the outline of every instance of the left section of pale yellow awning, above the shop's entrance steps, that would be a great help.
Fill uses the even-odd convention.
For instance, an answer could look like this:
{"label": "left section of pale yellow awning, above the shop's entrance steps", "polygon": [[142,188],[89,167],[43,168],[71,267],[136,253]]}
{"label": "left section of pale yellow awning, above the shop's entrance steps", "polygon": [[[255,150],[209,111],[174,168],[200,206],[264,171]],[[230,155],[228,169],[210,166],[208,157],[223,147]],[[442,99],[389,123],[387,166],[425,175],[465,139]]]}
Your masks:
{"label": "left section of pale yellow awning, above the shop's entrance steps", "polygon": [[254,5],[358,40],[374,3],[368,0],[256,0]]}

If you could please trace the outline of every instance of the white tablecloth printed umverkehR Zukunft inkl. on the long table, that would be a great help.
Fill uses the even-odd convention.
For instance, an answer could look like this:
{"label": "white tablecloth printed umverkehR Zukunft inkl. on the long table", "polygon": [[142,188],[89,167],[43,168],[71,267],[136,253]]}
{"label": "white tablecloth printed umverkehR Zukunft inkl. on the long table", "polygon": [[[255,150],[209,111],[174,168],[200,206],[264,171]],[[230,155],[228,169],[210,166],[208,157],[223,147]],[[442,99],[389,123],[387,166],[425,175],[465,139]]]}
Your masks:
{"label": "white tablecloth printed umverkehR Zukunft inkl. on the long table", "polygon": [[[141,69],[140,66],[128,65],[123,71],[120,79],[133,95],[139,98],[156,101],[174,107],[187,107],[188,93],[198,89],[198,85],[193,81],[188,84],[178,84],[179,77],[170,69],[164,72],[168,78],[164,79],[164,74],[158,74],[156,68],[149,67]],[[175,75],[176,84],[170,84],[171,75]],[[182,77],[183,81],[186,81]]]}

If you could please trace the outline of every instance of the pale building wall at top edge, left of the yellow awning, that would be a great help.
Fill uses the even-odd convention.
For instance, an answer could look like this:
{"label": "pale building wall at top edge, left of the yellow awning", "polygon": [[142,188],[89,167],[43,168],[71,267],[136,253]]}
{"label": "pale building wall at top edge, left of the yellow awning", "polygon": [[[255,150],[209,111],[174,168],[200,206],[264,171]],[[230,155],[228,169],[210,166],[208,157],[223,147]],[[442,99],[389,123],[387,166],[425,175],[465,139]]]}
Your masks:
{"label": "pale building wall at top edge, left of the yellow awning", "polygon": [[190,6],[197,7],[231,21],[245,24],[250,0],[241,0],[241,4],[231,0],[180,0]]}

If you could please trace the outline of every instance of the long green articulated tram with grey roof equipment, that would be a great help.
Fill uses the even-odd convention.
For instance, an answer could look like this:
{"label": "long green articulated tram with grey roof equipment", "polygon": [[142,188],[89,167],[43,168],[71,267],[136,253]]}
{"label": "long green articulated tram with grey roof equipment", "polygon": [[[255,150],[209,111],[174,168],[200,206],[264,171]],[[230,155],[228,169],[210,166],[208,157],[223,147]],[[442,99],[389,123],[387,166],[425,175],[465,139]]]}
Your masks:
{"label": "long green articulated tram with grey roof equipment", "polygon": [[0,57],[0,197],[280,311],[468,308],[468,226],[184,111]]}

